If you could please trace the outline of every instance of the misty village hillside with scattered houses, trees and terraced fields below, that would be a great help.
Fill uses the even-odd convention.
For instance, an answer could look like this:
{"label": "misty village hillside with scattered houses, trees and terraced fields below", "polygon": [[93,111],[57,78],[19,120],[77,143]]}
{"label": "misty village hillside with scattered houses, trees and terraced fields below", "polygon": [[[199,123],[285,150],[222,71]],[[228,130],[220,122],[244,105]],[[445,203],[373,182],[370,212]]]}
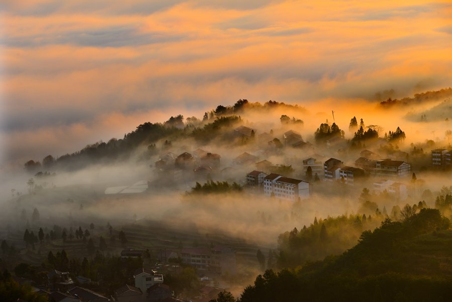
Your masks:
{"label": "misty village hillside with scattered houses, trees and terraced fields below", "polygon": [[[247,117],[273,111],[278,112],[273,123]],[[400,127],[383,133],[382,126],[366,126],[356,117],[347,134],[328,120],[312,131],[295,117],[304,114],[298,106],[239,100],[206,112],[203,120],[178,115],[141,124],[124,139],[56,159],[49,155],[42,163],[28,161],[28,194],[12,189],[16,220],[2,232],[3,280],[28,292],[29,301],[233,301],[226,298],[239,297],[265,269],[341,254],[358,243],[361,232],[385,221],[405,221],[427,208],[450,215],[452,188],[444,183],[436,193],[426,179],[449,175],[452,148],[445,140],[415,141]],[[144,172],[90,188],[91,197],[83,196],[85,189],[58,184],[60,175],[130,159]],[[178,194],[177,207],[186,207],[185,224],[178,225],[182,216],[154,218],[170,203],[160,199],[169,192]],[[70,210],[44,214],[45,202],[61,196]],[[284,221],[293,230],[272,239],[275,246],[244,238],[245,233],[221,233],[217,225],[226,223],[228,229],[232,220],[221,218],[211,226],[198,221],[203,210],[223,206],[223,198],[240,200],[233,206],[245,215],[249,209],[241,209],[246,203],[241,200],[257,201],[249,213],[258,225],[271,228]],[[135,207],[131,218],[128,204],[132,208],[138,200],[152,206]],[[333,218],[308,211],[318,212],[332,200],[346,200],[351,213]],[[103,217],[96,208],[101,202],[121,203],[123,216]]]}

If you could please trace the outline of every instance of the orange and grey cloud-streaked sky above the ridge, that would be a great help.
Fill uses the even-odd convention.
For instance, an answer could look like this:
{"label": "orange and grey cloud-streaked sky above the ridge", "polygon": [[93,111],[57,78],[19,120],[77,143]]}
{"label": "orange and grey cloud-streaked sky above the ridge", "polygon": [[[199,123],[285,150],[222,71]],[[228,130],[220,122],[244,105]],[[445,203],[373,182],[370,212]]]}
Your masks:
{"label": "orange and grey cloud-streaked sky above the ridge", "polygon": [[0,3],[1,165],[238,99],[352,106],[451,83],[450,1]]}

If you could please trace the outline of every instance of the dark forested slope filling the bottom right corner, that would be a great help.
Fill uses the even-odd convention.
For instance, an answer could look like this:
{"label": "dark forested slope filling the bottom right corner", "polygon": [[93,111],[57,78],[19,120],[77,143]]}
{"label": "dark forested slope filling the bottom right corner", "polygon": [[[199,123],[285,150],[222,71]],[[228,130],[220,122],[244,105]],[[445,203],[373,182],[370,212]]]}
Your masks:
{"label": "dark forested slope filling the bottom right corner", "polygon": [[[241,301],[449,301],[452,234],[437,209],[386,219],[340,256],[300,269],[267,270]],[[278,290],[276,290],[278,289]]]}

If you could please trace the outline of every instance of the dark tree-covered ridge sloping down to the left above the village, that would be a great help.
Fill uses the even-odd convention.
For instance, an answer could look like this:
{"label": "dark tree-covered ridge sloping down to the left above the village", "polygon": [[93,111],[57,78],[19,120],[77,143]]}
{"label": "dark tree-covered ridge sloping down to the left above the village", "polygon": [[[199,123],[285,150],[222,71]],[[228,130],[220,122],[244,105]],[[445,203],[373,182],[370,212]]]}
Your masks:
{"label": "dark tree-covered ridge sloping down to the left above the village", "polygon": [[[261,104],[238,100],[233,106],[219,105],[215,110],[206,112],[202,121],[196,117],[188,117],[184,123],[184,116],[179,114],[171,116],[164,123],[145,122],[138,125],[134,131],[125,134],[122,139],[112,138],[108,142],[99,141],[88,144],[77,152],[57,158],[49,155],[42,160],[42,163],[29,160],[24,166],[27,171],[40,173],[37,176],[51,175],[48,171],[77,170],[93,163],[105,164],[126,160],[136,152],[138,146],[147,146],[147,150],[140,159],[148,160],[157,152],[155,144],[160,140],[165,140],[161,146],[163,150],[171,145],[171,140],[178,137],[191,136],[198,141],[208,142],[219,133],[220,129],[236,125],[240,121],[238,114],[246,110],[264,111],[276,108],[306,111],[303,107],[276,101]],[[227,139],[227,137],[223,138]]]}

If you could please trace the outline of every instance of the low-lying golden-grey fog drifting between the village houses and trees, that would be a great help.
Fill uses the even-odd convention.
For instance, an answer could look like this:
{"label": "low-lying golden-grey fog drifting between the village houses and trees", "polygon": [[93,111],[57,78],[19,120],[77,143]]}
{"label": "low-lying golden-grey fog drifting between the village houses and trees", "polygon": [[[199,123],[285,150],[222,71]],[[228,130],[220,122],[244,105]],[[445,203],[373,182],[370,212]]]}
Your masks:
{"label": "low-lying golden-grey fog drifting between the village houses and trees", "polygon": [[[317,105],[307,105],[305,109],[272,109],[265,113],[248,110],[240,113],[240,116],[241,124],[256,129],[256,135],[273,130],[273,136],[282,140],[282,134],[293,129],[300,132],[305,141],[310,141],[314,145],[314,131],[327,119],[329,124],[334,120],[344,130],[345,138],[352,138],[353,132],[348,130],[348,125],[350,119],[355,116],[358,125],[359,120],[363,118],[366,126],[379,126],[380,137],[399,126],[406,133],[404,142],[397,144],[399,149],[410,154],[412,147],[417,145],[424,147],[424,152],[428,155],[432,148],[448,144],[448,138],[451,137],[446,135],[446,131],[452,128],[449,121],[431,118],[430,120],[434,121],[427,119],[419,122],[404,117],[408,113],[409,116],[413,116],[415,112],[419,114],[426,112],[441,102],[443,100],[408,107],[381,109],[375,103],[364,100],[325,100]],[[331,111],[334,111],[334,119]],[[282,125],[280,121],[282,114],[301,119],[304,123],[303,125]],[[202,114],[198,118],[202,119]],[[427,140],[433,142],[427,144]],[[373,191],[372,180],[370,180],[363,185],[345,189],[336,184],[315,183],[313,195],[296,204],[246,190],[242,193],[197,195],[189,198],[185,192],[190,191],[195,182],[188,180],[174,183],[172,186],[151,185],[148,191],[141,194],[104,194],[106,188],[112,186],[132,185],[138,181],[150,181],[152,184],[158,178],[153,164],[158,160],[159,155],[168,151],[177,156],[186,150],[190,152],[200,147],[207,152],[219,154],[221,169],[231,166],[234,168],[228,180],[235,180],[240,184],[244,183],[246,172],[255,169],[252,166],[233,166],[233,159],[243,152],[256,155],[259,160],[269,160],[274,164],[292,164],[295,169],[294,177],[304,176],[300,161],[312,155],[320,155],[325,159],[338,158],[351,166],[359,157],[359,150],[354,153],[338,153],[335,148],[325,147],[315,147],[312,150],[285,149],[280,153],[267,154],[262,152],[265,144],[263,146],[259,143],[233,145],[230,142],[222,142],[219,137],[212,138],[208,143],[200,143],[190,137],[178,137],[171,143],[170,148],[163,149],[163,141],[156,142],[158,152],[152,155],[150,160],[139,160],[140,155],[146,150],[146,146],[141,146],[127,161],[108,165],[92,163],[87,168],[73,172],[48,171],[55,172],[56,175],[45,178],[36,178],[22,168],[3,171],[5,173],[2,173],[0,184],[2,207],[0,220],[3,224],[1,227],[4,228],[6,224],[13,226],[22,224],[22,228],[26,222],[19,219],[22,210],[25,209],[29,216],[36,207],[41,217],[48,218],[48,221],[62,223],[75,221],[74,224],[76,224],[77,221],[89,221],[94,218],[110,222],[115,220],[131,222],[135,218],[163,220],[181,227],[185,224],[196,225],[200,232],[222,232],[259,244],[274,246],[280,233],[294,227],[302,228],[304,224],[309,225],[314,217],[326,218],[344,213],[356,213],[361,206],[358,197],[363,187]],[[381,152],[381,158],[386,157],[386,154],[376,145],[364,147],[369,147],[376,153]],[[48,153],[51,152],[52,150],[48,150]],[[418,185],[411,187],[408,200],[376,198],[379,207],[386,207],[389,212],[393,205],[398,204],[403,207],[407,202],[413,204],[422,200],[422,192],[425,189],[430,189],[436,196],[435,194],[443,185],[451,184],[450,180],[444,176],[420,170],[413,172],[421,181]],[[40,185],[43,189],[34,194],[28,194],[30,185],[27,182],[31,178],[35,185]],[[226,180],[221,178],[221,175],[215,175],[212,178],[218,181]],[[410,179],[411,175],[401,181],[410,185]],[[203,181],[200,180],[200,182]],[[432,202],[432,200],[427,201],[430,206],[433,206]],[[80,204],[83,204],[83,210],[80,210]]]}

